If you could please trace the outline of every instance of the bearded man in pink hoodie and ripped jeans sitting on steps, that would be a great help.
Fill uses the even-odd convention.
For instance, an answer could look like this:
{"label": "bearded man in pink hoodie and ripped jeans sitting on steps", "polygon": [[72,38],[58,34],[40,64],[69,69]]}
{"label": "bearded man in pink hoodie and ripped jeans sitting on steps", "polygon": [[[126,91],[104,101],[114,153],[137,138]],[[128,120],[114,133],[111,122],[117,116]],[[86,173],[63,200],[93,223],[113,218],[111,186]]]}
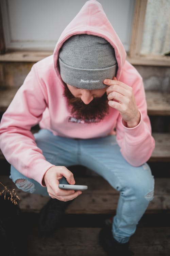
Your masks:
{"label": "bearded man in pink hoodie and ripped jeans sitting on steps", "polygon": [[[51,197],[40,212],[41,233],[55,231],[67,205],[82,194],[58,187],[75,184],[69,166],[94,170],[120,192],[113,223],[100,231],[108,255],[132,255],[130,237],[154,190],[146,163],[154,139],[145,90],[125,58],[101,5],[87,1],[53,56],[33,65],[0,127],[11,179],[23,191]],[[30,129],[38,123],[41,129],[33,135]]]}

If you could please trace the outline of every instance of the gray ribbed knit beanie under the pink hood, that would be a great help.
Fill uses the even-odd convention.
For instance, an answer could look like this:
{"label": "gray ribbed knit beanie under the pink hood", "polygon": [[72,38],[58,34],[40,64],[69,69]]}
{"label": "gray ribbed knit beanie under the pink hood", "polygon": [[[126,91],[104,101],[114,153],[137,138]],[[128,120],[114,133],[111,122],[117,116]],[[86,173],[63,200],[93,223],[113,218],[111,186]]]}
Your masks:
{"label": "gray ribbed knit beanie under the pink hood", "polygon": [[104,38],[77,34],[64,42],[59,53],[60,75],[69,85],[81,89],[102,89],[105,78],[117,72],[115,50]]}

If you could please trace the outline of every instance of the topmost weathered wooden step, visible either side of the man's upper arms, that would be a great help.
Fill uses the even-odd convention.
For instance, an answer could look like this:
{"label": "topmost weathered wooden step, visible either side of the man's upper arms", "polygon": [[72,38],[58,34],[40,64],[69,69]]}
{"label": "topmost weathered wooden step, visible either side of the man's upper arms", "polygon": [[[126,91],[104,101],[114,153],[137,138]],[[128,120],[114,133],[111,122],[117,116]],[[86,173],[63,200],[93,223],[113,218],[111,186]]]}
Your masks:
{"label": "topmost weathered wooden step, visible either side of the man's upper arms", "polygon": [[[4,112],[11,103],[18,88],[0,89],[0,112]],[[170,115],[170,93],[146,91],[149,115]]]}

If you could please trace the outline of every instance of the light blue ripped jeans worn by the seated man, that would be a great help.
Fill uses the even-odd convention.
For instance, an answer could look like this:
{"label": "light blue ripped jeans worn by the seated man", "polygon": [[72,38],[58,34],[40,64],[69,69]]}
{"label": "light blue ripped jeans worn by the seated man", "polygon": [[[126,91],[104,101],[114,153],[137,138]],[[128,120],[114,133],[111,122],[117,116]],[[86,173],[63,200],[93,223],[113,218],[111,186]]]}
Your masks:
{"label": "light blue ripped jeans worn by the seated man", "polygon": [[[69,139],[54,136],[49,130],[41,129],[34,136],[47,161],[56,166],[86,166],[120,192],[112,231],[117,241],[128,242],[153,199],[154,178],[148,164],[131,166],[122,157],[116,137],[113,135],[98,139]],[[13,182],[18,179],[27,180],[25,189],[24,184],[16,184],[23,191],[48,196],[46,187],[28,179],[13,166],[10,178]],[[66,179],[63,178],[61,183],[67,183]]]}

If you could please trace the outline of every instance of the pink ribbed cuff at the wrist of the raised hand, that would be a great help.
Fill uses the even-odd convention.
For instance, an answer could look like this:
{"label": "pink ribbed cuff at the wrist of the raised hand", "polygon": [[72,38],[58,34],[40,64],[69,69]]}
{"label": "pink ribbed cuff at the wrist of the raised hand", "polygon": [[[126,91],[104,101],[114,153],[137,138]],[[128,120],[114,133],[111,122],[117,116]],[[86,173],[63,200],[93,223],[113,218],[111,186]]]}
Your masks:
{"label": "pink ribbed cuff at the wrist of the raised hand", "polygon": [[121,120],[121,124],[123,126],[124,132],[125,134],[128,135],[129,139],[130,137],[140,137],[143,135],[143,131],[144,131],[144,123],[143,123],[143,118],[142,118],[142,113],[140,112],[140,122],[137,126],[132,127],[132,128],[128,128],[126,127],[126,122],[124,122],[124,120]]}

